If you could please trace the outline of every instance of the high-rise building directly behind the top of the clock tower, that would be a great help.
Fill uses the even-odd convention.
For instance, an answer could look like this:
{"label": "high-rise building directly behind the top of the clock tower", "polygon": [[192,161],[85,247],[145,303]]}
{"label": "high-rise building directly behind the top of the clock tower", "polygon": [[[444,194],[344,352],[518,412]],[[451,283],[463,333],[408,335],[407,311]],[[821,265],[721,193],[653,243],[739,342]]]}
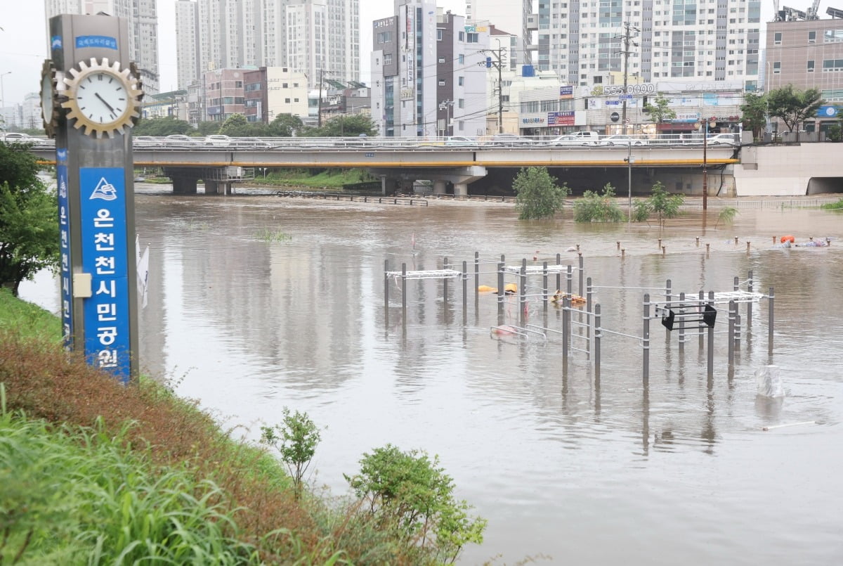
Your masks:
{"label": "high-rise building directly behind the top of the clock tower", "polygon": [[[158,93],[160,77],[155,0],[45,0],[44,9],[48,22],[60,13],[108,13],[126,18],[129,26],[129,52],[141,75],[143,91],[147,94]],[[47,35],[49,37],[49,33]]]}

